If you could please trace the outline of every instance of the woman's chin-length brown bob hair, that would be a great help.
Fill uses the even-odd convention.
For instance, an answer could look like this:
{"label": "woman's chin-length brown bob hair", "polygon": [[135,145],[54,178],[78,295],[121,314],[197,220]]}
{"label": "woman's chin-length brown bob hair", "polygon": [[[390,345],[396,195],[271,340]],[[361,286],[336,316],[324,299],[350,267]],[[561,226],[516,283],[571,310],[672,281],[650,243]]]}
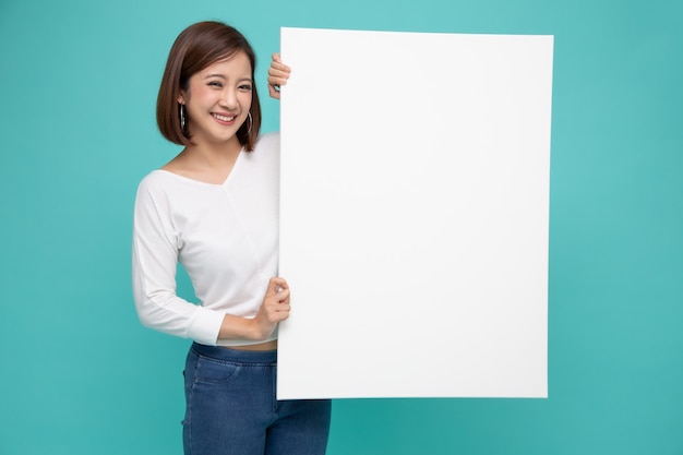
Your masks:
{"label": "woman's chin-length brown bob hair", "polygon": [[[156,122],[164,137],[178,145],[193,144],[192,136],[180,125],[180,91],[188,88],[193,74],[239,52],[249,58],[253,81],[256,56],[247,38],[236,28],[221,22],[197,22],[178,35],[168,55],[156,100]],[[261,130],[261,104],[255,83],[252,84],[249,112],[251,121],[247,120],[237,130],[237,139],[247,152],[254,149]]]}

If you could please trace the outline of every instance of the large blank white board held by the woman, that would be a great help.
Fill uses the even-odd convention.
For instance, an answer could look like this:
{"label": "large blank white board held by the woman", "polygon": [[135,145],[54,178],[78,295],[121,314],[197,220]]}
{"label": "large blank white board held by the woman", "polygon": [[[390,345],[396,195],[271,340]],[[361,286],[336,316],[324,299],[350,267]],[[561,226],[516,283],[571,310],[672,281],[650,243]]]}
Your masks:
{"label": "large blank white board held by the woman", "polygon": [[553,37],[280,49],[278,398],[547,397]]}

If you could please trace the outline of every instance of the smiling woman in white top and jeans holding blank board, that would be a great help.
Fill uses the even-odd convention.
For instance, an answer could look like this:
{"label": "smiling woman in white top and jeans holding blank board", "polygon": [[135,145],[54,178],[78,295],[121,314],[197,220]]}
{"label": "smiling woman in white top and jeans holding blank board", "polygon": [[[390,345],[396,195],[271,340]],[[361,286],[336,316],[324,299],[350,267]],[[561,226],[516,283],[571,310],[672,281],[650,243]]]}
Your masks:
{"label": "smiling woman in white top and jeans holding blank board", "polygon": [[[133,288],[142,323],[192,338],[185,454],[324,454],[329,400],[275,398],[277,324],[290,294],[277,277],[279,139],[259,135],[254,52],[235,28],[202,22],[173,44],[157,123],[182,152],[137,190]],[[269,92],[288,77],[277,56]],[[184,266],[199,306],[176,295]]]}

